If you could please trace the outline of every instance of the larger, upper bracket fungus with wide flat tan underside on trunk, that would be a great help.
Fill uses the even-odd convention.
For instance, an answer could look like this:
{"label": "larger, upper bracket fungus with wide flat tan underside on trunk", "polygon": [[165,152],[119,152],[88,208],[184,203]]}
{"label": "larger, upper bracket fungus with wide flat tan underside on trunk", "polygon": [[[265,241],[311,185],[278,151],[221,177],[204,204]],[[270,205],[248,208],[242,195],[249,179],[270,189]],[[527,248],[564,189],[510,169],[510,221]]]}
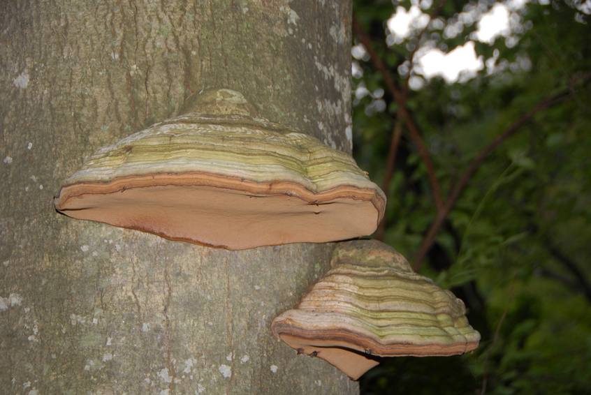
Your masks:
{"label": "larger, upper bracket fungus with wide flat tan underside on trunk", "polygon": [[371,234],[385,204],[350,155],[229,89],[99,149],[55,199],[73,218],[228,249]]}

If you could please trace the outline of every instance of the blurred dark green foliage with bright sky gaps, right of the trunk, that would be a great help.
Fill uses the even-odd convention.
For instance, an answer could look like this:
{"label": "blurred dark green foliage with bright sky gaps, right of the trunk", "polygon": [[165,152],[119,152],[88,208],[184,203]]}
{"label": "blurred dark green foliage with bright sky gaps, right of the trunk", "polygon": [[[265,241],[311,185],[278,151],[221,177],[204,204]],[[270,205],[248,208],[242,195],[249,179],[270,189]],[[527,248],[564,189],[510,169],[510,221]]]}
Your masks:
{"label": "blurred dark green foliage with bright sky gaps, right of the trunk", "polygon": [[479,349],[362,394],[591,392],[591,1],[354,2],[354,156],[376,237],[465,301]]}

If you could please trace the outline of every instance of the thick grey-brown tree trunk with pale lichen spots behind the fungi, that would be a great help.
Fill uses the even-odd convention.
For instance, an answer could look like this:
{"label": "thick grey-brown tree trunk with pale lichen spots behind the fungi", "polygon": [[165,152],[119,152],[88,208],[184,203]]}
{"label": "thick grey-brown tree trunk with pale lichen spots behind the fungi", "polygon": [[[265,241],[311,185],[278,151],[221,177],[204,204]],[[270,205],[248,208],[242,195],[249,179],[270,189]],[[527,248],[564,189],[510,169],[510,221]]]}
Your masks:
{"label": "thick grey-brown tree trunk with pale lichen spots behind the fungi", "polygon": [[52,202],[86,156],[206,88],[350,152],[350,1],[1,8],[2,392],[358,392],[270,333],[327,270],[330,244],[224,251],[75,221]]}

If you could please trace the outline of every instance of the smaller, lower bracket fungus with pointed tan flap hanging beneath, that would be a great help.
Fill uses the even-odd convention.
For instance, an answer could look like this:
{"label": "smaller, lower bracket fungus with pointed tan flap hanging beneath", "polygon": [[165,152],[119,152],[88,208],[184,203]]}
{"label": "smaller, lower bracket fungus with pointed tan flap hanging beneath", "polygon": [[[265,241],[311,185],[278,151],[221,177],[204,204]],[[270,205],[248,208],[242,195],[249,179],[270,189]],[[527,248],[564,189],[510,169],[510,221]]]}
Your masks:
{"label": "smaller, lower bracket fungus with pointed tan flap hanging beneath", "polygon": [[376,357],[456,355],[474,350],[480,334],[451,292],[412,271],[379,241],[339,244],[331,269],[272,331],[298,354],[326,359],[353,380]]}

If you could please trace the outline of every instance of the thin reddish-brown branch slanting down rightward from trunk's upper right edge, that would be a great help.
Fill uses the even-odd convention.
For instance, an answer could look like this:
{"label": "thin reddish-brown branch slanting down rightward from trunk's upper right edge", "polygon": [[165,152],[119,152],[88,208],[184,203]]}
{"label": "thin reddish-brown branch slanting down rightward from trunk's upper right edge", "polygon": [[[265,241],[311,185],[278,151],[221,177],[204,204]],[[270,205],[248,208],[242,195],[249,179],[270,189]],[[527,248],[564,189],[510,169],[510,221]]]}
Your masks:
{"label": "thin reddish-brown branch slanting down rightward from trunk's upper right edge", "polygon": [[429,151],[427,147],[425,147],[421,133],[419,133],[418,127],[416,126],[414,119],[411,117],[411,114],[407,109],[407,98],[404,94],[404,89],[401,89],[397,86],[390,71],[388,70],[388,66],[384,64],[384,61],[381,60],[381,57],[379,57],[377,52],[374,50],[371,38],[367,36],[363,29],[361,29],[355,15],[353,15],[353,31],[355,31],[355,35],[357,36],[359,42],[365,47],[367,54],[370,55],[372,64],[381,74],[381,77],[384,79],[384,84],[386,84],[386,88],[400,108],[400,115],[402,116],[402,119],[404,119],[404,123],[407,125],[411,140],[416,145],[418,154],[421,156],[423,163],[425,163],[425,167],[427,167],[427,174],[433,193],[433,200],[435,200],[435,207],[437,207],[437,211],[441,211],[441,209],[444,207],[442,190],[439,186],[439,182],[437,181],[437,177],[435,177],[435,167],[433,167],[433,163],[429,156]]}

